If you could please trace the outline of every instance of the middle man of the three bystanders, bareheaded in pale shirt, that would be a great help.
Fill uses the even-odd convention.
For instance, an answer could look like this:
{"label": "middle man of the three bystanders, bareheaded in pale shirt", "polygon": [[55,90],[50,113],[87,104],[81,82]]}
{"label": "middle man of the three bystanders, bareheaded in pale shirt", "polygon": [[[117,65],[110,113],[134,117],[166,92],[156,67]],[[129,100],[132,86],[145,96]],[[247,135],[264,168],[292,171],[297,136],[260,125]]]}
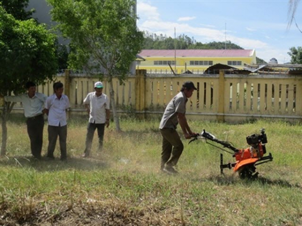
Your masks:
{"label": "middle man of the three bystanders, bareheaded in pale shirt", "polygon": [[66,110],[70,107],[68,97],[63,94],[63,83],[53,83],[54,94],[46,99],[46,114],[48,115],[48,149],[47,158],[54,159],[53,152],[59,137],[61,160],[67,160],[67,120]]}

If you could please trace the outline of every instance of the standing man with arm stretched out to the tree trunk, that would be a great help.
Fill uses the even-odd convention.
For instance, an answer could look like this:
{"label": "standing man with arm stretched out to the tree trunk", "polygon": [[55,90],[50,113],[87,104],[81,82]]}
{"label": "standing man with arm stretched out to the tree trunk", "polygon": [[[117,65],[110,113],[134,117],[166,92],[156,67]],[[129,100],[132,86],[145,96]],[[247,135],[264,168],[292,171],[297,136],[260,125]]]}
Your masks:
{"label": "standing man with arm stretched out to the tree trunk", "polygon": [[44,105],[47,96],[36,92],[36,84],[32,81],[28,81],[25,87],[27,93],[5,96],[4,99],[7,102],[22,102],[31,153],[36,159],[41,159],[44,129],[43,114],[45,113]]}

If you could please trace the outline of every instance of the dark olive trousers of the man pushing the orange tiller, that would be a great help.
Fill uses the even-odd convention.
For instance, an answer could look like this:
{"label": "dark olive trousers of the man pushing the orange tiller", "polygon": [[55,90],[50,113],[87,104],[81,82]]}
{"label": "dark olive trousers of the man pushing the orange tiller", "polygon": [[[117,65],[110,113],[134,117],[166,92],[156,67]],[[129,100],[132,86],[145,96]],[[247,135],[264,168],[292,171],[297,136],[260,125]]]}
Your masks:
{"label": "dark olive trousers of the man pushing the orange tiller", "polygon": [[161,170],[165,165],[175,166],[184,150],[184,145],[174,129],[161,129],[163,137]]}

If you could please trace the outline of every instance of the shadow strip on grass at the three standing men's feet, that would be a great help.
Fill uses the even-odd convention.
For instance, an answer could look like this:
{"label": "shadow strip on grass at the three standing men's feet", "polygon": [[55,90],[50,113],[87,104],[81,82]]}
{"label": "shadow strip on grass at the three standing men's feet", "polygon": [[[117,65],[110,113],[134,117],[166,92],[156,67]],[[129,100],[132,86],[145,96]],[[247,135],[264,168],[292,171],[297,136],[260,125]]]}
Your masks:
{"label": "shadow strip on grass at the three standing men's feet", "polygon": [[67,161],[59,159],[48,160],[42,157],[37,160],[31,156],[16,156],[16,157],[3,157],[0,159],[1,166],[18,167],[18,168],[34,168],[37,171],[58,171],[66,169],[77,170],[100,170],[109,167],[109,164],[104,160],[93,158],[68,158]]}

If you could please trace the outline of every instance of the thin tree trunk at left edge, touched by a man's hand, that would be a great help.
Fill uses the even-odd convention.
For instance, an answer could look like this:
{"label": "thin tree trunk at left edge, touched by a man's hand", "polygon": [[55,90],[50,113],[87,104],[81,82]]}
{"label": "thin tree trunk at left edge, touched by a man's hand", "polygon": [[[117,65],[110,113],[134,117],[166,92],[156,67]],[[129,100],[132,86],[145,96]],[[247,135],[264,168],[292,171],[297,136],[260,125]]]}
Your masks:
{"label": "thin tree trunk at left edge, touched by a man's hand", "polygon": [[8,141],[7,121],[13,106],[14,103],[10,103],[10,102],[4,102],[3,105],[3,111],[1,114],[2,143],[1,143],[0,156],[5,156],[7,152],[7,141]]}

